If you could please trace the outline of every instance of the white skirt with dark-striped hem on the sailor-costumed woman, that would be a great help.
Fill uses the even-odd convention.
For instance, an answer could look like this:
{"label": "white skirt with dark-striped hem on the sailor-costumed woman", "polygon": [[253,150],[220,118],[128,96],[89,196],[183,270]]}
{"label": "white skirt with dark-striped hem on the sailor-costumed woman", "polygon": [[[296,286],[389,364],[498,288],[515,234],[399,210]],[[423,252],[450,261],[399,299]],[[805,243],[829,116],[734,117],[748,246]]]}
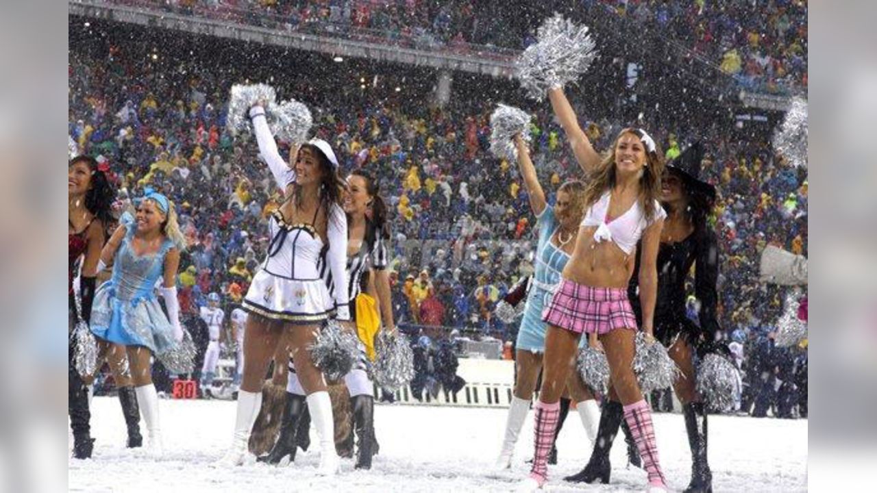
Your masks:
{"label": "white skirt with dark-striped hem on the sailor-costumed woman", "polygon": [[301,325],[318,324],[335,311],[335,302],[322,279],[296,281],[264,269],[253,276],[242,306],[265,318]]}

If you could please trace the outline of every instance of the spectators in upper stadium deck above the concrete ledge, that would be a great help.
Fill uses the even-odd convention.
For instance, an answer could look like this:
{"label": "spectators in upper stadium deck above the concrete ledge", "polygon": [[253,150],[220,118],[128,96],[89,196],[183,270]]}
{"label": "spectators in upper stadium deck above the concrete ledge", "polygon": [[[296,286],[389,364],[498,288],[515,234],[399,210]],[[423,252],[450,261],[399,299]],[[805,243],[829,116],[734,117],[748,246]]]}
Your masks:
{"label": "spectators in upper stadium deck above the concrete ledge", "polygon": [[[807,2],[771,0],[549,0],[509,5],[473,0],[108,0],[285,31],[389,42],[420,49],[511,56],[560,11],[588,24],[608,13],[647,25],[745,89],[807,87]],[[628,25],[637,29],[637,25]],[[657,30],[657,31],[656,31]]]}

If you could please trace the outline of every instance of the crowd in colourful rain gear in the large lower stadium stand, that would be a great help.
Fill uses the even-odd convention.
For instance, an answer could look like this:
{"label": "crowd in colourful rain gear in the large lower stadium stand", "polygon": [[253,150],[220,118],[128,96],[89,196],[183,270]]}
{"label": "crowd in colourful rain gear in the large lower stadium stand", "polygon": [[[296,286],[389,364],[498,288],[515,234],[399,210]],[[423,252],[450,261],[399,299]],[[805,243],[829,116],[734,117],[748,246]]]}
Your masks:
{"label": "crowd in colourful rain gear in the large lower stadium stand", "polygon": [[[246,63],[167,54],[158,60],[142,50],[111,39],[71,50],[69,134],[76,152],[109,163],[121,198],[153,187],[175,202],[189,238],[179,275],[182,311],[194,316],[211,291],[227,304],[246,293],[279,195],[253,139],[225,128],[232,82],[255,76]],[[488,153],[488,118],[499,100],[460,89],[439,110],[405,104],[392,89],[321,78],[316,69],[309,77],[290,77],[282,93],[309,104],[315,132],[332,141],[342,169],[371,169],[391,204],[399,323],[513,339],[516,327],[503,325],[493,308],[532,271],[534,218],[515,164]],[[597,114],[582,122],[598,148],[623,123]],[[772,348],[783,290],[757,282],[759,254],[769,244],[807,254],[806,169],[774,155],[768,132],[732,132],[726,122],[667,128],[660,114],[645,116],[641,125],[653,130],[667,158],[695,140],[705,143],[704,173],[720,195],[711,218],[723,248],[720,320],[750,341],[747,353],[760,351],[759,344]],[[547,189],[578,175],[547,104],[535,112],[531,137]],[[777,361],[777,379],[788,373],[780,369],[788,367],[783,361],[797,361],[794,351],[780,353],[759,358]],[[763,369],[752,369],[753,377]]]}

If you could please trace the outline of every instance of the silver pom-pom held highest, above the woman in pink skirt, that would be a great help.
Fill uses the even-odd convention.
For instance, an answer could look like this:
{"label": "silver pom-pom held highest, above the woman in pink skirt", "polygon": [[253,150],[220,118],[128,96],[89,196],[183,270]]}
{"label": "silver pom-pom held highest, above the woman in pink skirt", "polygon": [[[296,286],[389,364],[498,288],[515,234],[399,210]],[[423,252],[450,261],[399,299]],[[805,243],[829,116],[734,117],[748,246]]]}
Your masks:
{"label": "silver pom-pom held highest, above the woman in pink skirt", "polygon": [[542,101],[548,89],[575,82],[596,58],[588,26],[555,14],[539,27],[537,41],[527,46],[515,65],[529,96]]}

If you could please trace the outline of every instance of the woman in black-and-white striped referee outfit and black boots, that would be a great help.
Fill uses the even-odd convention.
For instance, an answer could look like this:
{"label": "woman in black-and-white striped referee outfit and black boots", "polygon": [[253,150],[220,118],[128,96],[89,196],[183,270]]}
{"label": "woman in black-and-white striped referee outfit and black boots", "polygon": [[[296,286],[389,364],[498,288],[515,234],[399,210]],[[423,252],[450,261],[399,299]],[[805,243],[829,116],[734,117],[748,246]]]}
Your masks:
{"label": "woman in black-and-white striped referee outfit and black boots", "polygon": [[[347,217],[347,283],[337,285],[331,275],[327,282],[331,289],[346,289],[347,296],[355,300],[360,294],[361,279],[368,273],[367,291],[375,295],[386,330],[395,331],[393,311],[390,304],[389,276],[386,243],[389,241],[387,207],[380,195],[377,182],[366,172],[357,170],[347,177],[347,192],[344,210]],[[331,274],[331,273],[327,273]],[[356,313],[353,312],[355,320]],[[372,456],[376,454],[374,439],[374,383],[368,379],[365,346],[374,346],[374,334],[360,333],[360,360],[353,370],[345,375],[345,383],[350,392],[353,410],[353,431],[358,440],[355,468],[368,469]],[[296,361],[297,363],[297,361]],[[301,443],[297,435],[307,433],[308,412],[304,409],[304,390],[296,374],[296,363],[289,360],[289,380],[287,383],[287,404],[283,413],[280,436],[270,454],[260,457],[260,461],[277,464],[287,456],[293,461],[296,446]],[[302,437],[303,438],[303,437]],[[353,438],[353,435],[351,435]]]}

